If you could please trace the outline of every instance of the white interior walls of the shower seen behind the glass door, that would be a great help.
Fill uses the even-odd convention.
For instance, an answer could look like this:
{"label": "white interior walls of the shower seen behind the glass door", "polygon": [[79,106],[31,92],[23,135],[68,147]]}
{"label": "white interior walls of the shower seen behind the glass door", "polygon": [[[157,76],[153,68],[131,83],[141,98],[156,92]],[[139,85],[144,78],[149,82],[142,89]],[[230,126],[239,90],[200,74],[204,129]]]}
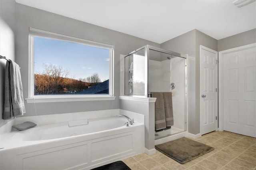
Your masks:
{"label": "white interior walls of the shower seen behind the glass door", "polygon": [[[151,52],[151,51],[150,51]],[[185,59],[182,57],[172,57],[167,59],[165,53],[154,51],[149,54],[149,91],[168,92],[170,83],[175,83],[172,90],[172,105],[174,125],[172,127],[186,130],[186,79],[185,79]],[[162,61],[156,60],[156,55],[164,55]],[[152,59],[154,58],[154,59]]]}

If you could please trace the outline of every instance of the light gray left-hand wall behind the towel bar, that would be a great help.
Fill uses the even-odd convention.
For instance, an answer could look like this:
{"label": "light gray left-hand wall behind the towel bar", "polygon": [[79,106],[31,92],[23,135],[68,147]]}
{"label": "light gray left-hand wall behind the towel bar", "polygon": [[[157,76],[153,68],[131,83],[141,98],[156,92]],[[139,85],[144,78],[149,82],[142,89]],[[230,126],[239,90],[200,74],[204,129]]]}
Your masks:
{"label": "light gray left-hand wall behind the towel bar", "polygon": [[[14,60],[15,2],[0,0],[0,55]],[[0,127],[8,121],[2,120],[4,111],[5,59],[0,59]]]}

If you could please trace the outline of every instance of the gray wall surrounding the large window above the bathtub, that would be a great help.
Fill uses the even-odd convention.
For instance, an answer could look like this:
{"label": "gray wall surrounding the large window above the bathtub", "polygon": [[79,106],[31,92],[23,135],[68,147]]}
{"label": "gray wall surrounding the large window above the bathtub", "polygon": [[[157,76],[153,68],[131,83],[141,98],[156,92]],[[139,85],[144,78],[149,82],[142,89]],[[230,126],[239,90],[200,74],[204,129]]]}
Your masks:
{"label": "gray wall surrounding the large window above the bathtub", "polygon": [[[8,0],[9,2],[10,0]],[[2,3],[2,0],[0,1]],[[11,2],[15,3],[11,0]],[[114,45],[114,96],[115,101],[81,101],[81,102],[55,102],[55,103],[26,103],[26,113],[24,116],[36,115],[49,115],[59,113],[72,113],[81,111],[94,111],[105,109],[119,109],[120,94],[120,54],[128,54],[143,45],[150,44],[156,47],[160,47],[160,44],[146,41],[134,36],[129,36],[120,32],[24,6],[22,4],[13,4],[15,10],[15,61],[21,67],[21,77],[23,85],[24,98],[28,98],[28,33],[29,27],[38,28],[50,32],[64,34],[68,36],[83,38],[86,40],[92,40],[95,42],[107,43]],[[7,8],[6,4],[1,4],[2,8]],[[7,9],[8,10],[8,9]],[[14,12],[12,11],[12,17],[14,18]],[[4,13],[4,12],[3,12]],[[7,13],[8,14],[8,13]],[[2,17],[2,13],[1,13]],[[10,17],[9,17],[10,18]],[[8,19],[8,18],[7,18]],[[13,50],[13,49],[12,49]],[[14,51],[14,50],[13,50]],[[4,64],[1,61],[2,70]],[[1,73],[2,74],[2,73]],[[1,81],[0,87],[4,86]],[[3,106],[3,89],[0,91],[1,95],[1,109]],[[35,112],[36,107],[36,112]],[[2,112],[1,112],[2,113]]]}

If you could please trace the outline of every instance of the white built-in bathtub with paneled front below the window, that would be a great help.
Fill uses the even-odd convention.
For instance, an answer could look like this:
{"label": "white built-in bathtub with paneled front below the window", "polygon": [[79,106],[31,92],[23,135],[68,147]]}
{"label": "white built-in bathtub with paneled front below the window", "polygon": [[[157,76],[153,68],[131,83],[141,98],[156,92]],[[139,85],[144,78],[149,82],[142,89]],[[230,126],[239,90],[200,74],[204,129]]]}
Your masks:
{"label": "white built-in bathtub with paneled front below the window", "polygon": [[91,169],[144,152],[144,125],[126,127],[124,117],[88,119],[1,134],[0,169]]}

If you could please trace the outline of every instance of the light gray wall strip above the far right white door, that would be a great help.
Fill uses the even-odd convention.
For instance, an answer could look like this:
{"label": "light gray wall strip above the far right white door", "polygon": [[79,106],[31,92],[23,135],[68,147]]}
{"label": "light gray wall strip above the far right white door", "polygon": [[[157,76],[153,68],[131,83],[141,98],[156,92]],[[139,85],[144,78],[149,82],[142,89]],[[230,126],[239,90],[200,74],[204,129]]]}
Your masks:
{"label": "light gray wall strip above the far right white door", "polygon": [[218,51],[256,43],[256,28],[218,40]]}

